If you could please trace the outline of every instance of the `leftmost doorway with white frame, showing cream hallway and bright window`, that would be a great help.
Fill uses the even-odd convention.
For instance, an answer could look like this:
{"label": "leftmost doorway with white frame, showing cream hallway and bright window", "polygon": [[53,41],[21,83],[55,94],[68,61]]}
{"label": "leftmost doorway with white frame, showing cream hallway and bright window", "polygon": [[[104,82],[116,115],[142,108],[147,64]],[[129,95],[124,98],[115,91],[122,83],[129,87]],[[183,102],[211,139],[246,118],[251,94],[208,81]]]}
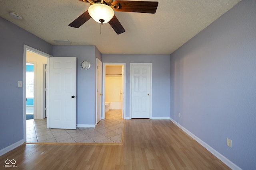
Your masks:
{"label": "leftmost doorway with white frame, showing cream hallway and bright window", "polygon": [[[49,57],[52,57],[42,51],[38,51],[37,49],[34,49],[32,47],[29,47],[27,45],[24,45],[24,53],[23,53],[23,82],[24,82],[24,88],[23,88],[23,115],[24,115],[24,142],[26,142],[27,134],[26,134],[26,119],[27,119],[27,104],[29,104],[33,110],[31,109],[31,112],[33,112],[33,119],[43,119],[45,118],[45,101],[46,101],[46,93],[45,93],[45,84],[46,84],[46,76],[45,76],[45,66],[48,63]],[[30,63],[28,65],[33,66],[33,73],[34,76],[31,75],[31,79],[33,79],[33,84],[30,84],[26,82],[27,80],[27,63]],[[31,72],[30,72],[31,73]],[[30,74],[29,73],[29,74]],[[32,78],[34,77],[34,78]],[[30,86],[29,88],[27,87]],[[32,90],[33,87],[33,90]],[[28,91],[30,90],[30,91]],[[27,103],[27,95],[26,92],[32,92],[33,95],[30,94],[30,103]],[[33,99],[33,103],[31,102]]]}

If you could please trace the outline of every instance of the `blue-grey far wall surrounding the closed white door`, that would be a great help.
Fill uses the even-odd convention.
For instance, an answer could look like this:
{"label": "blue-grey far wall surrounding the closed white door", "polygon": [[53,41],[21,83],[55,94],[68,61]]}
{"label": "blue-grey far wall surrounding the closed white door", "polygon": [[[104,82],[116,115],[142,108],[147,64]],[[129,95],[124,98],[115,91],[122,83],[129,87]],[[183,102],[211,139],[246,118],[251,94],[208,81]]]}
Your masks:
{"label": "blue-grey far wall surrounding the closed white door", "polygon": [[102,54],[102,63],[126,63],[126,117],[130,116],[130,63],[153,63],[152,117],[169,117],[170,55]]}

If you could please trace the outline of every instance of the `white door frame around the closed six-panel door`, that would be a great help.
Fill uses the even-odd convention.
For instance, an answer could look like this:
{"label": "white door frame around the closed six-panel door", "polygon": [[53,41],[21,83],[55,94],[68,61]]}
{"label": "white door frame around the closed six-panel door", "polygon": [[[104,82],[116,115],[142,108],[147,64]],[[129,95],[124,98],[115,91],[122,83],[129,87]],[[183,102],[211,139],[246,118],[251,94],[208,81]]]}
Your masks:
{"label": "white door frame around the closed six-panel door", "polygon": [[150,119],[152,119],[152,75],[153,63],[130,63],[130,119],[132,119],[132,65],[148,65],[150,66]]}

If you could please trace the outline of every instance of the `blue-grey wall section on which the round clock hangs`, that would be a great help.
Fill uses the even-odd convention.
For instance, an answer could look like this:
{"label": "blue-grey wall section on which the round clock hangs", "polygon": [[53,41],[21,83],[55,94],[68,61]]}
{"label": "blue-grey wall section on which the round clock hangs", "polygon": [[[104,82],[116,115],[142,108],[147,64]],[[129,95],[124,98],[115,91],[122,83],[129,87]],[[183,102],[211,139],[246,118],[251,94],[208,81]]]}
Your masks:
{"label": "blue-grey wall section on which the round clock hangs", "polygon": [[[77,124],[95,125],[96,108],[96,57],[101,54],[95,46],[55,45],[53,57],[77,58]],[[81,68],[81,63],[88,60],[91,67],[88,70]]]}

